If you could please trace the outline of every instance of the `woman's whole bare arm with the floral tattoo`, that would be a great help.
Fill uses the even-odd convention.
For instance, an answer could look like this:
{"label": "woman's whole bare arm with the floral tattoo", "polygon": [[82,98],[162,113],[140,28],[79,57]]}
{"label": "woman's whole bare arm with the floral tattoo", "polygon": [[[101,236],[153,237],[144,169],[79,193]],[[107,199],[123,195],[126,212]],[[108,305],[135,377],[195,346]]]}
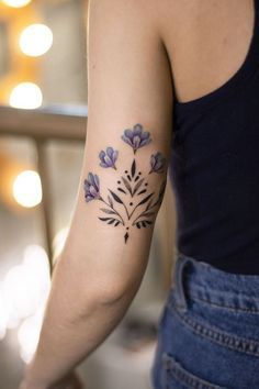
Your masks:
{"label": "woman's whole bare arm with the floral tattoo", "polygon": [[170,69],[155,13],[144,0],[90,1],[83,166],[26,374],[30,389],[49,388],[90,355],[140,286],[172,125]]}

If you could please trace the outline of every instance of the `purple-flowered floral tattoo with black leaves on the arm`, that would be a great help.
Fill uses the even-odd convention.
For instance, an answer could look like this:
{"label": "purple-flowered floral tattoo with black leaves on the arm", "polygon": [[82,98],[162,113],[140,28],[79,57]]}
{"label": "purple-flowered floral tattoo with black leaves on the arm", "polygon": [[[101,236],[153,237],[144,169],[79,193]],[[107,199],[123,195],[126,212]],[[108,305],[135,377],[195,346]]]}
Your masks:
{"label": "purple-flowered floral tattoo with black leaves on the arm", "polygon": [[[105,215],[99,216],[102,222],[124,227],[124,242],[130,237],[132,227],[147,227],[154,223],[154,215],[157,207],[160,205],[166,189],[166,179],[160,185],[158,193],[148,189],[148,175],[161,174],[165,171],[166,158],[161,153],[151,154],[149,160],[149,173],[147,177],[143,177],[142,171],[137,169],[137,162],[135,159],[136,152],[151,142],[150,133],[144,131],[142,124],[137,123],[133,129],[124,130],[121,137],[133,149],[133,162],[128,170],[120,174],[117,179],[116,190],[108,189],[110,194],[106,199],[101,196],[99,177],[89,173],[88,178],[85,179],[85,199],[87,202],[99,200],[103,203],[100,208]],[[116,168],[116,160],[119,152],[113,147],[106,147],[106,151],[99,153],[100,166],[103,168]]]}

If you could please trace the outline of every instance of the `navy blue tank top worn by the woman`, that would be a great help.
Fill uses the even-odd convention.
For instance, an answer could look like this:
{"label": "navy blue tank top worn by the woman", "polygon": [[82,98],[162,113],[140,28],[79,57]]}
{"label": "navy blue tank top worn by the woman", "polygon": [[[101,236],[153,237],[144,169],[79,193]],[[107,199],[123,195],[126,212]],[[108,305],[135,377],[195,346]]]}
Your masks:
{"label": "navy blue tank top worn by the woman", "polygon": [[177,249],[229,273],[259,275],[259,1],[239,69],[173,101],[169,173]]}

